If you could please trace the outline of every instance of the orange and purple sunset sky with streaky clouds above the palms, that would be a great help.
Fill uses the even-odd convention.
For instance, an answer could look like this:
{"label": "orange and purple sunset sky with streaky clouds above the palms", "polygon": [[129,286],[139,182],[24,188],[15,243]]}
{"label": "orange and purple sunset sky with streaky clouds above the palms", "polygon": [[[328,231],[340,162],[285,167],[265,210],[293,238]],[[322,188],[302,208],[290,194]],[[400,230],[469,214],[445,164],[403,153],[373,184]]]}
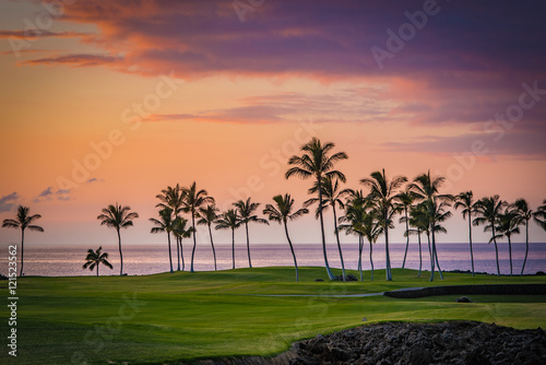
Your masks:
{"label": "orange and purple sunset sky with streaky clouds above the palms", "polygon": [[[312,137],[347,153],[336,166],[347,188],[381,168],[411,180],[430,170],[446,177],[441,192],[536,209],[545,12],[538,1],[0,0],[0,219],[28,205],[45,228],[28,245],[88,248],[116,240],[96,216],[119,202],[140,214],[124,243],[164,245],[149,219],[177,182],[195,181],[223,211],[251,196],[261,213],[285,192],[301,204],[311,181],[284,173]],[[313,216],[290,224],[296,244],[319,242]],[[460,212],[447,227],[440,242],[466,240]],[[250,229],[254,244],[285,242],[276,223]],[[390,236],[404,242],[401,227]],[[530,237],[546,240],[534,223]],[[207,244],[203,228],[198,238]]]}

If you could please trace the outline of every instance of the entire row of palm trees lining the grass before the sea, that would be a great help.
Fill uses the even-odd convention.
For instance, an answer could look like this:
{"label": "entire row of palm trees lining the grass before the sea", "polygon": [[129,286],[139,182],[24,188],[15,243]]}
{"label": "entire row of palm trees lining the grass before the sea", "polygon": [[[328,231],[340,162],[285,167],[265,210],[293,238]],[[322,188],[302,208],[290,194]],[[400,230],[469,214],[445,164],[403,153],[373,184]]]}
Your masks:
{"label": "entire row of palm trees lining the grass before the sea", "polygon": [[[389,231],[394,228],[395,217],[400,215],[399,223],[405,225],[404,236],[406,238],[404,260],[402,268],[406,264],[407,251],[410,246],[410,237],[417,236],[419,245],[419,273],[423,267],[423,250],[422,235],[425,234],[428,242],[428,252],[430,259],[430,281],[435,278],[435,272],[438,270],[440,278],[443,279],[440,268],[440,261],[437,252],[436,235],[447,233],[442,225],[452,212],[449,210],[453,207],[455,210],[462,209],[463,219],[468,222],[468,244],[472,263],[472,274],[474,275],[474,254],[472,247],[472,227],[484,224],[484,231],[490,232],[491,237],[489,243],[494,243],[496,251],[497,274],[500,274],[498,239],[507,238],[510,256],[510,274],[513,273],[512,266],[512,236],[520,234],[520,227],[525,227],[525,259],[521,269],[521,274],[525,269],[525,263],[529,256],[529,222],[533,219],[538,225],[546,231],[546,200],[532,211],[524,199],[518,199],[513,203],[508,203],[500,199],[499,196],[484,197],[477,201],[474,200],[472,191],[461,192],[456,196],[442,195],[439,192],[444,177],[431,177],[430,172],[418,175],[412,181],[405,176],[394,176],[388,178],[384,169],[376,170],[369,177],[360,179],[360,184],[368,190],[365,193],[361,189],[355,190],[342,188],[342,184],[346,181],[345,175],[335,169],[336,163],[346,160],[345,152],[335,152],[334,143],[322,143],[319,139],[312,138],[310,142],[301,146],[301,155],[294,155],[288,160],[289,168],[285,173],[285,178],[299,177],[301,179],[312,179],[312,186],[308,189],[311,198],[304,202],[304,207],[295,209],[295,201],[289,193],[277,195],[273,197],[273,203],[269,203],[263,209],[262,213],[268,216],[269,221],[282,223],[286,234],[296,269],[296,281],[298,280],[298,268],[294,246],[288,234],[287,222],[309,213],[308,208],[317,205],[316,219],[320,222],[320,233],[322,243],[322,254],[324,258],[324,267],[330,280],[335,279],[333,275],[327,255],[327,238],[324,233],[324,210],[331,208],[333,213],[333,229],[337,244],[337,249],[341,259],[342,276],[346,280],[345,263],[340,244],[340,231],[344,231],[347,235],[358,237],[358,270],[360,280],[363,278],[363,251],[365,240],[369,244],[369,260],[371,267],[371,280],[373,280],[373,244],[382,235],[384,237],[385,249],[385,278],[392,280],[391,259],[389,251]],[[175,237],[177,247],[177,270],[185,270],[183,256],[183,238],[193,238],[193,247],[191,251],[190,272],[194,272],[194,256],[197,247],[197,228],[195,225],[206,225],[211,242],[211,248],[214,257],[214,270],[216,266],[216,250],[214,248],[214,239],[212,227],[215,229],[232,229],[232,267],[235,269],[235,229],[245,226],[248,266],[252,268],[250,254],[250,235],[249,223],[268,224],[269,221],[259,217],[256,211],[260,203],[252,202],[251,198],[239,200],[233,203],[233,209],[219,213],[215,205],[215,200],[210,197],[204,189],[198,189],[197,184],[192,182],[189,187],[181,187],[177,184],[175,187],[168,186],[156,196],[159,202],[156,208],[159,208],[158,217],[150,219],[154,224],[151,233],[166,233],[169,252],[170,272],[173,270],[173,258],[170,238]],[[337,216],[339,210],[343,213]],[[188,219],[181,214],[189,214],[191,224]],[[27,207],[19,207],[15,220],[8,219],[3,221],[2,227],[21,228],[21,272],[23,274],[23,248],[24,233],[28,228],[31,231],[44,232],[40,226],[32,224],[39,219],[39,214],[29,214]],[[132,212],[131,208],[121,204],[110,204],[102,210],[102,214],[97,216],[100,225],[112,227],[117,232],[118,247],[120,255],[120,275],[123,274],[123,256],[121,249],[121,228],[127,228],[133,225],[133,220],[139,217],[136,212]],[[106,252],[88,250],[87,262],[84,268],[97,268],[102,262],[105,266],[110,266]],[[98,260],[98,261],[97,261]],[[95,263],[93,263],[93,262]],[[180,267],[181,261],[181,267]],[[111,266],[110,266],[111,267]]]}

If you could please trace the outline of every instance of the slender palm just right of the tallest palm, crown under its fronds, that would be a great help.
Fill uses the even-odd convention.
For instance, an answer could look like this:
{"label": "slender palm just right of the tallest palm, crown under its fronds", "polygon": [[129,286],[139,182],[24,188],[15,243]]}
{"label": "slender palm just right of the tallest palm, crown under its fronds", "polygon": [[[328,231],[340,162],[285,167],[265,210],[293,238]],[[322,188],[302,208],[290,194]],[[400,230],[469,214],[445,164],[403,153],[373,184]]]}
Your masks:
{"label": "slender palm just right of the tallest palm, crown under its fronds", "polygon": [[[309,189],[309,192],[317,193],[318,189],[319,189],[319,185],[316,182],[313,185],[313,187],[311,189]],[[317,209],[317,214],[316,214],[317,217],[319,217],[318,214],[319,214],[320,210],[323,211],[328,207],[332,207],[332,211],[334,214],[334,233],[335,233],[335,239],[337,242],[337,250],[340,252],[340,259],[341,259],[341,263],[342,263],[343,281],[346,280],[346,278],[345,278],[345,262],[343,261],[343,252],[342,252],[341,244],[340,244],[340,233],[337,232],[337,215],[335,212],[335,205],[339,205],[340,209],[345,209],[345,204],[341,200],[341,198],[343,198],[347,193],[349,193],[348,189],[340,191],[340,179],[337,179],[337,178],[332,179],[332,177],[330,177],[330,176],[324,176],[322,178],[322,197],[323,197],[322,203],[324,204],[324,207],[322,207],[322,208],[319,207]],[[304,205],[309,207],[309,205],[317,203],[317,202],[319,202],[318,198],[311,198],[311,199],[308,199],[304,203]]]}

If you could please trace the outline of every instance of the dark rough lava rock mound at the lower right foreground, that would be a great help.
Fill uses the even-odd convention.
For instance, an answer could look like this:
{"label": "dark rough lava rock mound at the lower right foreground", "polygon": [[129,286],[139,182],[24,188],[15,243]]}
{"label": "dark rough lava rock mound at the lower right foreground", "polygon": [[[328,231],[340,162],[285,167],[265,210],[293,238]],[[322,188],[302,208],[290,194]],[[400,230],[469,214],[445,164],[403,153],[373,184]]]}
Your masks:
{"label": "dark rough lava rock mound at the lower right foreground", "polygon": [[387,322],[360,326],[297,342],[272,358],[200,361],[202,365],[428,365],[546,364],[546,332],[495,323]]}

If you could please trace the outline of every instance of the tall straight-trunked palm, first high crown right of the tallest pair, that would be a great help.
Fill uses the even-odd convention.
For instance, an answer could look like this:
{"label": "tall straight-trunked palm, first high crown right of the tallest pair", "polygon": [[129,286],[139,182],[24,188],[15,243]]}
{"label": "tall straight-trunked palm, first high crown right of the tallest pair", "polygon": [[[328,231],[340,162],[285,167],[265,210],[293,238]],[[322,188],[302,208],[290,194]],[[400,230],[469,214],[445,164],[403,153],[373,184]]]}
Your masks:
{"label": "tall straight-trunked palm, first high crown right of the tallest pair", "polygon": [[404,176],[395,176],[389,180],[382,172],[373,172],[370,177],[360,180],[360,184],[370,189],[369,199],[373,202],[375,210],[378,213],[379,224],[382,226],[384,234],[384,254],[385,254],[385,276],[388,281],[392,280],[391,258],[389,255],[389,228],[394,228],[393,217],[399,212],[399,208],[394,203],[396,190],[407,181]]}

